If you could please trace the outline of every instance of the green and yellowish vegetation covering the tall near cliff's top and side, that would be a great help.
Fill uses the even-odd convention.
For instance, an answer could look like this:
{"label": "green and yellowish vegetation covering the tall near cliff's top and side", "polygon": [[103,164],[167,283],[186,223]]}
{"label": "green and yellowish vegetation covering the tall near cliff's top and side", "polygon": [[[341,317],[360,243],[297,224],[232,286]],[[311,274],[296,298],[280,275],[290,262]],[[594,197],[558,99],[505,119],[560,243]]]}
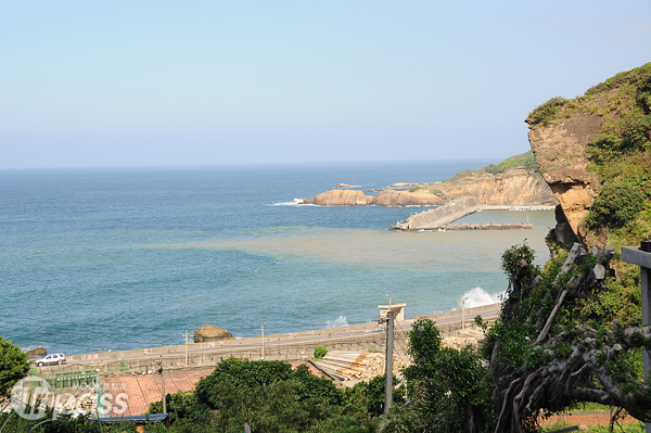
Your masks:
{"label": "green and yellowish vegetation covering the tall near cliff's top and side", "polygon": [[588,243],[639,244],[651,237],[651,63],[617,74],[582,97],[552,98],[526,122],[536,129],[579,116],[601,120],[587,149],[588,170],[599,179],[599,196],[584,221]]}

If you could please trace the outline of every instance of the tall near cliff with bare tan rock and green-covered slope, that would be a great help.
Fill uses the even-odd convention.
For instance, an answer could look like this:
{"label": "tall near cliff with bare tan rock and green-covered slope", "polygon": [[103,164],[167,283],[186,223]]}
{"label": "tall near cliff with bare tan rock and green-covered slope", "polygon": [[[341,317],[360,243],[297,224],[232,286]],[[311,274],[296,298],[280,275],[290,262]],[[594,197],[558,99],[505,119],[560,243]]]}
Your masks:
{"label": "tall near cliff with bare tan rock and green-covered slope", "polygon": [[638,232],[646,230],[640,212],[651,188],[650,112],[648,63],[573,100],[552,98],[528,115],[536,164],[562,209],[561,243],[573,233],[590,247],[603,247],[613,230],[624,238],[633,222]]}

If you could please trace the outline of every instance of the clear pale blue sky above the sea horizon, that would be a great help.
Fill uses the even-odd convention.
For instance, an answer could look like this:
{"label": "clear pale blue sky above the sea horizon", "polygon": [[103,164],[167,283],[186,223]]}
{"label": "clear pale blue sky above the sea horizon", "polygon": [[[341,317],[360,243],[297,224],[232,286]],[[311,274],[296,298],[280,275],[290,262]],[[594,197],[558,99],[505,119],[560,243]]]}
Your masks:
{"label": "clear pale blue sky above the sea horizon", "polygon": [[2,1],[0,169],[494,158],[651,1]]}

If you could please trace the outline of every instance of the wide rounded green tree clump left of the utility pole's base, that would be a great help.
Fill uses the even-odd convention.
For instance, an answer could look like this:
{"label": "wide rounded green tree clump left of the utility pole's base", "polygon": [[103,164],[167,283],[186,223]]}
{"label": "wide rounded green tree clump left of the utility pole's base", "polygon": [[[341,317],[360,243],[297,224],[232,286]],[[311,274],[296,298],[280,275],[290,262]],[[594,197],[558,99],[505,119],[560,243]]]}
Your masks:
{"label": "wide rounded green tree clump left of the utility pole's base", "polygon": [[[369,432],[372,423],[356,398],[344,398],[330,379],[306,366],[229,358],[196,385],[191,412],[224,432]],[[354,396],[348,396],[354,397]],[[199,419],[199,417],[194,417]]]}

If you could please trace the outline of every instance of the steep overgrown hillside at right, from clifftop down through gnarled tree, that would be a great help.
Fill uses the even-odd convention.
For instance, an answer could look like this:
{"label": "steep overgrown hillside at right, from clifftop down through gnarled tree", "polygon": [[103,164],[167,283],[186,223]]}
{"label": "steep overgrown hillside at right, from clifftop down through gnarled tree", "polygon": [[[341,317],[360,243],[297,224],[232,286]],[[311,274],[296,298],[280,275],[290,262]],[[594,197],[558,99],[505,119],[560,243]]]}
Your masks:
{"label": "steep overgrown hillside at right, from clifftop down through gnarled tree", "polygon": [[552,98],[526,123],[560,205],[544,268],[526,243],[502,255],[509,289],[483,349],[495,431],[536,431],[537,413],[586,402],[618,408],[613,420],[625,410],[651,422],[642,373],[651,326],[640,268],[621,259],[622,246],[651,237],[651,63],[582,97]]}

